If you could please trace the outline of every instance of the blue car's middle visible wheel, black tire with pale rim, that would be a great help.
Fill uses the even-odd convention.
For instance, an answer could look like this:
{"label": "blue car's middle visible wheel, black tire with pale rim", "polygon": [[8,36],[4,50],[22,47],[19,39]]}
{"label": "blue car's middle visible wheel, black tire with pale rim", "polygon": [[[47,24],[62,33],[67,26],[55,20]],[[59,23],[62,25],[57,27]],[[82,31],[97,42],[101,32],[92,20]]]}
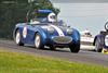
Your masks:
{"label": "blue car's middle visible wheel, black tire with pale rim", "polygon": [[43,49],[44,46],[42,45],[42,39],[41,39],[41,35],[39,33],[36,34],[35,36],[35,46],[37,49]]}

